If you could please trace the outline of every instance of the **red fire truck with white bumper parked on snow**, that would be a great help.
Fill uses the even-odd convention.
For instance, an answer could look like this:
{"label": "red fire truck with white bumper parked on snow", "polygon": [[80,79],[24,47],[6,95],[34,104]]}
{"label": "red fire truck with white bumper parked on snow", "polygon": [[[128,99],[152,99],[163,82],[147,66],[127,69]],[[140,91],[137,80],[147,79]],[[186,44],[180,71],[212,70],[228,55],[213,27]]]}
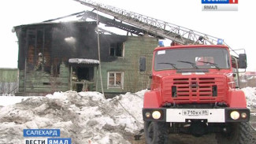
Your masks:
{"label": "red fire truck with white bumper parked on snow", "polygon": [[[141,62],[140,70],[145,67]],[[238,68],[247,68],[246,54],[232,57],[228,46],[157,47],[143,103],[147,144],[165,143],[172,133],[216,133],[219,144],[249,143],[250,109],[236,89]]]}

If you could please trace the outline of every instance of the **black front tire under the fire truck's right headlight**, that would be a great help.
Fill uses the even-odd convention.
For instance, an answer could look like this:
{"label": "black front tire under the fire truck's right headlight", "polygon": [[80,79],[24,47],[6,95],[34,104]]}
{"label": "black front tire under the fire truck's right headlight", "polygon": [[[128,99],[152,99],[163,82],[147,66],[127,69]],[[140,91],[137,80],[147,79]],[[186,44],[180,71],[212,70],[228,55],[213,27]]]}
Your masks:
{"label": "black front tire under the fire truck's right headlight", "polygon": [[230,125],[229,133],[216,134],[217,144],[249,144],[252,137],[250,135],[250,124],[248,122],[233,123]]}

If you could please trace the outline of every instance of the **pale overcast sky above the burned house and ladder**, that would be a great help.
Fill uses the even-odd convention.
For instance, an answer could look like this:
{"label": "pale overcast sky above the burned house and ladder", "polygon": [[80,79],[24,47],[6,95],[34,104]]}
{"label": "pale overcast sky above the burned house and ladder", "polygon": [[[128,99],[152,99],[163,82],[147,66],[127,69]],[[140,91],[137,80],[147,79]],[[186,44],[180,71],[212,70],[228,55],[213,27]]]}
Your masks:
{"label": "pale overcast sky above the burned house and ladder", "polygon": [[[247,51],[248,71],[256,71],[256,1],[239,0],[238,11],[205,12],[201,0],[95,0],[164,20],[207,35],[224,39],[232,49]],[[38,23],[57,17],[91,10],[72,0],[16,0],[2,1],[0,68],[17,68],[17,36],[13,26]]]}

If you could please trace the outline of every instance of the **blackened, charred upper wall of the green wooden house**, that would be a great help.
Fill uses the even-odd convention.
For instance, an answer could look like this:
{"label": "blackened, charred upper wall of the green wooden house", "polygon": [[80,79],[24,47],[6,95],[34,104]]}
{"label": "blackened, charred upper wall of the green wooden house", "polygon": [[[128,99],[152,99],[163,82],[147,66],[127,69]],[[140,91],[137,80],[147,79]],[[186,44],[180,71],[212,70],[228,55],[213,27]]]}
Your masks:
{"label": "blackened, charred upper wall of the green wooden house", "polygon": [[[50,72],[62,62],[68,65],[69,58],[98,59],[98,42],[95,22],[69,22],[30,24],[16,27],[19,39],[18,68],[34,70],[43,54],[44,70]],[[124,42],[127,36],[100,35],[101,60],[115,61],[109,55],[111,43]],[[54,68],[55,69],[55,68]]]}

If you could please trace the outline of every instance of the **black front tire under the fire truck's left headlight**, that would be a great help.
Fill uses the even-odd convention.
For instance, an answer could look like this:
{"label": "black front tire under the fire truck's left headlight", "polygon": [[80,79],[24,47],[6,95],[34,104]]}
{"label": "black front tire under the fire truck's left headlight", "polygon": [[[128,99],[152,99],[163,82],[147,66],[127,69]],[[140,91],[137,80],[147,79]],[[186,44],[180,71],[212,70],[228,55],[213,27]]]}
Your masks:
{"label": "black front tire under the fire truck's left headlight", "polygon": [[147,144],[165,144],[168,141],[168,123],[165,122],[144,122],[144,132]]}

